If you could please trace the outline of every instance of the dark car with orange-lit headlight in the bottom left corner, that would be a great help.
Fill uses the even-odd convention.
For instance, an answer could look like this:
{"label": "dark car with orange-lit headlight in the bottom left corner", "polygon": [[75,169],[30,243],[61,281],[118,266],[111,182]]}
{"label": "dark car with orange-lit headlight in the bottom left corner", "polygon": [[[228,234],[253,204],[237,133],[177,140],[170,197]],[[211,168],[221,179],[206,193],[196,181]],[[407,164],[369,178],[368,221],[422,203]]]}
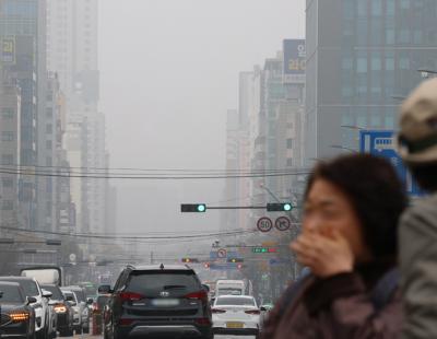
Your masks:
{"label": "dark car with orange-lit headlight in the bottom left corner", "polygon": [[17,282],[0,282],[1,338],[33,339],[35,337],[35,309],[33,296],[26,296]]}

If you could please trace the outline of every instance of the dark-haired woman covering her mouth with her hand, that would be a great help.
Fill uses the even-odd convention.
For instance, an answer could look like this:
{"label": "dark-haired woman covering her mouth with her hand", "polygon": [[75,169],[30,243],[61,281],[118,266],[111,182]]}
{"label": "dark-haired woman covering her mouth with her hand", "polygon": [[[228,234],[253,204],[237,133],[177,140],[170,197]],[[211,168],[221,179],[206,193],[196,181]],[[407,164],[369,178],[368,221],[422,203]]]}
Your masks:
{"label": "dark-haired woman covering her mouth with her hand", "polygon": [[366,154],[320,163],[291,245],[310,273],[272,311],[262,338],[398,338],[398,222],[406,197],[390,163]]}

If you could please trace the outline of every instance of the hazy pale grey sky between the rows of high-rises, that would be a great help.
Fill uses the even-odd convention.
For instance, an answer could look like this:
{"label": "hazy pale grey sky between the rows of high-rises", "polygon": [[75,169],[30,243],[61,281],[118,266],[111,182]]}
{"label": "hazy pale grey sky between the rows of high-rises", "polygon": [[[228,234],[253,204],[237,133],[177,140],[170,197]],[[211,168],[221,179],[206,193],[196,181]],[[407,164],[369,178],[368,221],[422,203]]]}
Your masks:
{"label": "hazy pale grey sky between the rows of high-rises", "polygon": [[[113,167],[224,168],[238,72],[305,34],[305,0],[101,0],[99,14]],[[180,215],[178,203],[220,201],[223,182],[115,184],[123,231],[218,226],[217,212]]]}

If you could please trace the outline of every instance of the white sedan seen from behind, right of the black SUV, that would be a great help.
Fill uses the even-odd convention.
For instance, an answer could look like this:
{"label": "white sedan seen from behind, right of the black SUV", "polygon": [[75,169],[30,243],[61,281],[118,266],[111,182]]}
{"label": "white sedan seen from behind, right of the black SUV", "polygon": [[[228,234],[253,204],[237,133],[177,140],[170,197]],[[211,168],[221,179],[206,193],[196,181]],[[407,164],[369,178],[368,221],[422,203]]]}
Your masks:
{"label": "white sedan seen from behind, right of the black SUV", "polygon": [[212,327],[218,335],[259,336],[260,309],[253,296],[220,295],[212,306]]}

